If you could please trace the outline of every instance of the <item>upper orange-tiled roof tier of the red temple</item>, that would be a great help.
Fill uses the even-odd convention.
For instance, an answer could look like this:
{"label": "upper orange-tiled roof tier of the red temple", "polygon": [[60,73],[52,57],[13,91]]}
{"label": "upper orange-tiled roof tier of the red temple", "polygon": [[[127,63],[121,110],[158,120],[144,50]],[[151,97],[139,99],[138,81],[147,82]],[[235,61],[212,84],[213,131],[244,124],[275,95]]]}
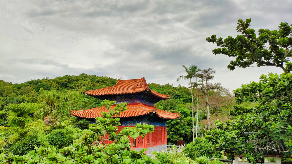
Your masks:
{"label": "upper orange-tiled roof tier of the red temple", "polygon": [[131,79],[131,80],[118,80],[117,84],[113,87],[106,87],[101,89],[95,89],[91,91],[85,91],[85,94],[89,96],[107,96],[107,95],[121,95],[121,94],[135,94],[135,93],[147,93],[162,100],[169,99],[170,95],[160,94],[152,91],[145,78]]}

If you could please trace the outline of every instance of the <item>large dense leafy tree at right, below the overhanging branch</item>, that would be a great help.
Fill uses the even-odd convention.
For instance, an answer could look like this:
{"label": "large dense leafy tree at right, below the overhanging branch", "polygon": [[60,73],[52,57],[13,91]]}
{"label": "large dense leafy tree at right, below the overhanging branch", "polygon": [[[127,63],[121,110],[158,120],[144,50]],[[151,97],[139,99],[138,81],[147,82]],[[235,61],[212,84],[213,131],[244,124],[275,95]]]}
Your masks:
{"label": "large dense leafy tree at right, below the overhanging branch", "polygon": [[[292,152],[292,76],[262,75],[260,82],[251,82],[234,90],[236,103],[256,102],[254,107],[234,106],[225,123],[215,121],[217,129],[206,132],[206,139],[216,145],[217,157],[225,150],[229,159],[244,154],[251,161],[265,154],[291,156]],[[240,130],[239,130],[240,129]]]}

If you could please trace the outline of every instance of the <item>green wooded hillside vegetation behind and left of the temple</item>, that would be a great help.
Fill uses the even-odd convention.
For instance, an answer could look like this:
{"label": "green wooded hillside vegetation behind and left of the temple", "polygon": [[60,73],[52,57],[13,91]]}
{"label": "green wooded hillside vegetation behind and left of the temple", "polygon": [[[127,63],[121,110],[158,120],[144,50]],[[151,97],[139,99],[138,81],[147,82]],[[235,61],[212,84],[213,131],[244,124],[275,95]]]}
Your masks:
{"label": "green wooded hillside vegetation behind and left of the temple", "polygon": [[[30,80],[21,84],[0,81],[0,126],[9,127],[9,154],[36,156],[35,147],[59,149],[73,143],[73,131],[65,130],[65,125],[77,129],[88,129],[89,121],[70,117],[71,110],[85,110],[99,107],[101,100],[85,96],[85,90],[114,86],[117,79],[80,74],[65,75]],[[156,107],[170,112],[180,112],[180,117],[167,122],[168,144],[177,140],[186,143],[192,140],[191,90],[171,84],[149,84],[162,94],[170,94],[169,100],[156,103]],[[7,101],[7,97],[8,101]],[[215,92],[210,96],[215,98]],[[204,96],[199,96],[203,101]],[[4,122],[4,107],[9,107],[8,125]],[[206,107],[200,104],[199,120],[206,119]],[[220,109],[220,115],[227,115],[228,106]],[[213,112],[214,115],[214,112]],[[214,115],[215,116],[215,115]],[[44,121],[44,118],[48,117]],[[217,118],[217,117],[216,117]],[[196,117],[194,118],[196,119]],[[201,124],[202,131],[204,125]],[[5,133],[0,133],[0,160],[4,159]],[[64,142],[66,140],[66,142]]]}

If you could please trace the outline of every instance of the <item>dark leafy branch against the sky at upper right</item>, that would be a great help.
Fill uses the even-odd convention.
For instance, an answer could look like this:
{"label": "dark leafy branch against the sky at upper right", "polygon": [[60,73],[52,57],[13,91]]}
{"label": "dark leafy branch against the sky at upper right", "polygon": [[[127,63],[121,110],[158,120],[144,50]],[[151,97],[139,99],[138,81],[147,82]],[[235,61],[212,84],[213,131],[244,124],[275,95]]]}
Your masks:
{"label": "dark leafy branch against the sky at upper right", "polygon": [[[282,68],[285,73],[291,72],[292,63],[288,58],[292,57],[292,24],[280,23],[279,30],[259,29],[258,37],[254,29],[249,29],[251,19],[246,21],[238,20],[236,38],[216,38],[216,35],[207,37],[208,42],[216,43],[216,48],[212,50],[213,54],[225,54],[229,57],[236,57],[235,61],[230,61],[227,66],[229,70],[235,67],[250,66],[276,66]],[[289,36],[290,35],[290,36]],[[285,64],[285,66],[284,66]]]}

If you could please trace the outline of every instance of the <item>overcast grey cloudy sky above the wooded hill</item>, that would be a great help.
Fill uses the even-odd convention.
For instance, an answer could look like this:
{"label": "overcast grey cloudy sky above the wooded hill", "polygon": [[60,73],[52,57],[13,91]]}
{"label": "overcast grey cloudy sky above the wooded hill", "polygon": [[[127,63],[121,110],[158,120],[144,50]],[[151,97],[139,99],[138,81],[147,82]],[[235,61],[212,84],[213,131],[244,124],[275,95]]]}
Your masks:
{"label": "overcast grey cloudy sky above the wooded hill", "polygon": [[64,75],[179,84],[182,65],[217,71],[212,82],[234,90],[281,68],[227,69],[232,58],[213,55],[215,34],[237,36],[239,19],[256,31],[292,22],[286,0],[1,0],[0,80],[22,83]]}

